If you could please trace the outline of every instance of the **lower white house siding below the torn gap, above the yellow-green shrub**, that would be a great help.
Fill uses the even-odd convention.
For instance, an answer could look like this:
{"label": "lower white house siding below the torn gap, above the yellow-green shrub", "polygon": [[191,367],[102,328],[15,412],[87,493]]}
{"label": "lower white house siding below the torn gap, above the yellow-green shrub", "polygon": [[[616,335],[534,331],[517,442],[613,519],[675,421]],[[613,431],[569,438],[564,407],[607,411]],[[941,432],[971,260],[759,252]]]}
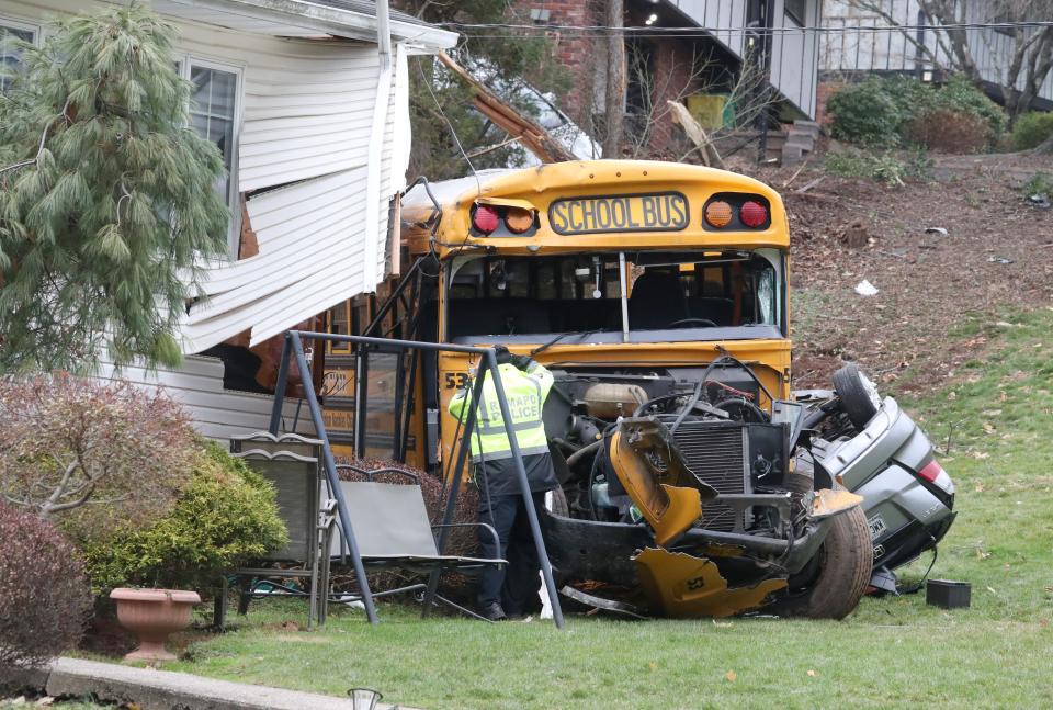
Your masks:
{"label": "lower white house siding below the torn gap, above the yellow-green shrub", "polygon": [[[163,390],[180,402],[191,416],[194,429],[210,439],[225,441],[235,433],[267,429],[271,420],[270,395],[233,392],[223,388],[223,362],[216,358],[190,356],[177,370],[125,367],[117,373],[112,363],[103,362],[99,377],[123,379],[145,390]],[[283,408],[283,421],[292,431],[296,402],[288,401]],[[296,431],[314,433],[310,420],[301,416]]]}

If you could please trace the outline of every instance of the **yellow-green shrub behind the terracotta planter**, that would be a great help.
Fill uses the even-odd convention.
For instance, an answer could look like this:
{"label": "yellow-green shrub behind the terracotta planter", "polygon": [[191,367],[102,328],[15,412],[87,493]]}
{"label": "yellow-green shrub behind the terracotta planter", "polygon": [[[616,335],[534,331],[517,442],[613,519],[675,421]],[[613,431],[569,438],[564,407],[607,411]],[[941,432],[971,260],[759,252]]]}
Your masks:
{"label": "yellow-green shrub behind the terracotta planter", "polygon": [[84,556],[99,591],[201,587],[286,541],[274,487],[207,442],[171,512],[147,528],[120,526],[106,539],[86,544]]}

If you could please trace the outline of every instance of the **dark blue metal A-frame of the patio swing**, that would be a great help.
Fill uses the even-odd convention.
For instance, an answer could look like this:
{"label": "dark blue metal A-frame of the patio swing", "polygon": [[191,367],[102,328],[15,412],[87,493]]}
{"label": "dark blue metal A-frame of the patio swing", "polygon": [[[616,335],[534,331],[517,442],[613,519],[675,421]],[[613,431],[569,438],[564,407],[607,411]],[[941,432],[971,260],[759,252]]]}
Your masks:
{"label": "dark blue metal A-frame of the patio swing", "polygon": [[[288,386],[290,362],[295,359],[296,365],[299,368],[301,380],[304,390],[304,399],[307,402],[307,408],[310,412],[310,418],[315,425],[316,436],[322,442],[322,458],[326,477],[329,482],[329,487],[332,491],[332,496],[337,501],[337,516],[340,521],[340,529],[343,533],[344,542],[348,545],[351,563],[354,567],[354,575],[359,582],[359,588],[362,594],[362,604],[365,606],[365,613],[370,619],[370,623],[378,623],[380,620],[376,616],[376,607],[373,604],[373,593],[370,590],[370,583],[365,575],[365,567],[362,562],[362,556],[359,553],[358,542],[354,539],[354,531],[351,527],[351,519],[348,516],[348,507],[344,501],[343,491],[340,486],[340,476],[337,471],[337,462],[332,454],[332,447],[329,444],[329,435],[326,431],[326,422],[322,417],[321,404],[318,402],[318,397],[315,393],[314,382],[310,376],[310,364],[307,362],[307,358],[304,354],[304,338],[321,341],[354,343],[359,350],[359,362],[365,360],[370,350],[383,350],[392,348],[424,352],[461,352],[478,356],[479,369],[478,376],[475,377],[475,382],[473,384],[473,402],[483,401],[483,383],[485,382],[487,375],[492,376],[495,393],[497,395],[498,405],[501,409],[501,418],[502,421],[508,422],[512,420],[512,417],[508,407],[508,397],[505,394],[505,387],[501,383],[501,377],[498,374],[497,353],[492,348],[475,348],[471,346],[450,343],[395,340],[389,338],[371,338],[365,336],[347,336],[331,333],[312,333],[303,330],[288,330],[285,333],[285,343],[282,348],[281,364],[278,369],[278,383],[274,387],[274,405],[271,410],[270,431],[273,435],[278,435],[279,432],[278,430],[282,422],[282,404],[285,398],[285,391]],[[364,380],[364,377],[360,376],[362,372],[360,370],[355,370],[356,384],[364,387],[364,382],[360,382],[361,380]],[[361,392],[362,390],[359,391]],[[359,399],[356,397],[355,429],[358,431],[362,430],[359,427],[359,422],[365,417],[363,404],[364,399]],[[446,539],[449,537],[449,526],[453,522],[454,514],[456,512],[457,493],[463,482],[465,465],[467,464],[467,457],[471,450],[469,442],[475,427],[475,419],[476,407],[473,406],[468,409],[467,418],[464,421],[464,428],[461,436],[461,444],[457,448],[453,481],[451,482],[446,507],[443,511],[442,525],[445,527],[440,528],[439,533],[439,554],[443,553]],[[548,593],[548,600],[552,604],[553,621],[557,628],[562,629],[564,624],[563,609],[559,606],[559,597],[556,590],[555,579],[552,575],[552,565],[548,562],[548,554],[545,551],[545,541],[541,534],[541,526],[537,521],[537,512],[534,510],[530,482],[526,478],[526,469],[523,465],[523,457],[519,449],[519,442],[516,438],[514,430],[510,427],[506,427],[505,433],[508,438],[512,460],[516,464],[516,475],[519,478],[519,488],[521,495],[523,496],[523,504],[526,509],[528,520],[530,522],[531,536],[533,537],[534,546],[537,551],[537,559],[541,563],[541,572],[545,581],[545,588]],[[358,440],[355,446],[358,448]],[[424,594],[424,616],[428,615],[432,604],[434,602],[440,574],[441,571],[438,570],[432,572],[428,581],[428,588]]]}

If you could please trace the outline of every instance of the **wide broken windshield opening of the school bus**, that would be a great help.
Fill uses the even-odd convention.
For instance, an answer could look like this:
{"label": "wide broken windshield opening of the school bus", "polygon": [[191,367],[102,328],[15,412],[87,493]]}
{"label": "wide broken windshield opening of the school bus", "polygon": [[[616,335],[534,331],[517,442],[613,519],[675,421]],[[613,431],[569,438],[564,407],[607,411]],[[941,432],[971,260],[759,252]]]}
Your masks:
{"label": "wide broken windshield opening of the school bus", "polygon": [[779,326],[780,294],[752,252],[469,257],[449,284],[448,337]]}

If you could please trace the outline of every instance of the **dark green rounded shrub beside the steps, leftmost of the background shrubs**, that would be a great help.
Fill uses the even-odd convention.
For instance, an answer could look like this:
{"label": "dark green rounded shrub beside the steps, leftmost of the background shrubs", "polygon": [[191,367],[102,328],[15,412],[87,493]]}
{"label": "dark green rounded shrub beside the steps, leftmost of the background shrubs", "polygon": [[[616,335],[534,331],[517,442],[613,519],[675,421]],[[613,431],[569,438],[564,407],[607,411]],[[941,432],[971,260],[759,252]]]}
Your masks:
{"label": "dark green rounded shrub beside the steps, leftmost of the background shrubs", "polygon": [[899,142],[899,110],[881,79],[868,79],[830,97],[827,110],[834,116],[835,138],[870,146],[895,146]]}

